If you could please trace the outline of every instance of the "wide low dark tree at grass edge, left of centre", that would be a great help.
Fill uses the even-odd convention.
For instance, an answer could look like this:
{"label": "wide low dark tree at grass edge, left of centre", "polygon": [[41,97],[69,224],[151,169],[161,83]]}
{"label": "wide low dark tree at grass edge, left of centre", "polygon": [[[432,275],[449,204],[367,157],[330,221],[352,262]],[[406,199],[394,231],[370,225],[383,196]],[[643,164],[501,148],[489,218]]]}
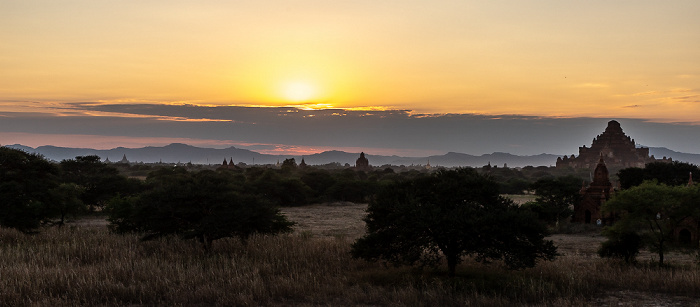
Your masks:
{"label": "wide low dark tree at grass edge, left of centre", "polygon": [[162,169],[147,183],[149,189],[138,197],[110,204],[110,229],[143,232],[144,240],[174,234],[197,239],[210,250],[214,240],[245,241],[254,233],[287,232],[293,225],[276,207],[244,193],[240,177],[231,172]]}

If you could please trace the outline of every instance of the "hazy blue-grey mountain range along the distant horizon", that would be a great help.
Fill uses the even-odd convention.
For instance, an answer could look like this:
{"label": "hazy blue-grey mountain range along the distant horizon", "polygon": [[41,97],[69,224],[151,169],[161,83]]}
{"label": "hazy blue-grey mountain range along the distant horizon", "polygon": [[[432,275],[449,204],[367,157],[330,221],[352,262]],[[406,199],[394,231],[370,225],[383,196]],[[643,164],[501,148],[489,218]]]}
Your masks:
{"label": "hazy blue-grey mountain range along the distant horizon", "polygon": [[[163,147],[143,147],[143,148],[124,148],[117,147],[107,150],[90,149],[90,148],[67,148],[56,146],[40,146],[32,148],[19,144],[6,145],[7,147],[22,149],[27,152],[38,153],[49,160],[61,161],[64,159],[73,159],[76,156],[97,155],[103,160],[109,159],[112,162],[120,161],[126,157],[130,162],[164,162],[164,163],[187,163],[194,164],[221,164],[224,159],[234,163],[243,162],[246,164],[275,164],[284,159],[295,158],[297,163],[301,162],[302,156],[294,155],[267,155],[254,152],[247,149],[229,147],[224,149],[216,148],[201,148],[186,144],[173,143]],[[649,148],[650,154],[656,158],[671,157],[675,161],[689,162],[700,164],[700,154],[681,153],[663,147]],[[518,156],[503,152],[494,152],[480,156],[469,155],[464,153],[449,152],[444,155],[433,155],[429,157],[400,157],[400,156],[381,156],[381,155],[365,155],[373,166],[381,165],[426,165],[431,166],[472,166],[480,167],[486,164],[509,167],[524,167],[524,166],[553,166],[557,157],[560,155],[554,154],[539,154],[531,156]],[[344,151],[325,151],[322,153],[303,156],[306,164],[321,165],[329,163],[348,163],[355,164],[355,160],[359,157],[359,153],[349,153]]]}

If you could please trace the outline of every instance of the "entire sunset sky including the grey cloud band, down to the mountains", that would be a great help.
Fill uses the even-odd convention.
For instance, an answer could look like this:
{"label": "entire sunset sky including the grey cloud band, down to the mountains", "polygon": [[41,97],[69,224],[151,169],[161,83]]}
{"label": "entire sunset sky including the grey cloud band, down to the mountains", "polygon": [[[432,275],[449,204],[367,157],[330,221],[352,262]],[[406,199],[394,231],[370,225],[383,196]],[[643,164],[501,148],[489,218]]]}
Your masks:
{"label": "entire sunset sky including the grey cloud band, down to the mountains", "polygon": [[0,144],[700,153],[700,2],[0,0]]}

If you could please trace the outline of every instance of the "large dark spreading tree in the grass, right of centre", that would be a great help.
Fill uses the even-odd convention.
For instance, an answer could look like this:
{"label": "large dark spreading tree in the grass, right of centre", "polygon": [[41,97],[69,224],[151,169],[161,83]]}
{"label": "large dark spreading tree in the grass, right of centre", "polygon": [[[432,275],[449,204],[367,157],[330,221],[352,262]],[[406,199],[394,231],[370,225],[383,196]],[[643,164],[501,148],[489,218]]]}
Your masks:
{"label": "large dark spreading tree in the grass, right of centre", "polygon": [[367,212],[368,233],[352,246],[356,258],[435,265],[445,257],[452,277],[467,255],[518,269],[556,254],[552,241],[544,240],[545,225],[473,169],[440,170],[384,186]]}

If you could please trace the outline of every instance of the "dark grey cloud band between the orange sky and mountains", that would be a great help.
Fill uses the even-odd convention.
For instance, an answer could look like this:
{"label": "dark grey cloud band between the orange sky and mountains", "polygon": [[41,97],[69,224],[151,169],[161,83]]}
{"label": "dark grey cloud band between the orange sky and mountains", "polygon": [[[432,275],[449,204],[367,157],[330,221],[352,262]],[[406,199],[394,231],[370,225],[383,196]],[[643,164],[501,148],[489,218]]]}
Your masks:
{"label": "dark grey cloud band between the orange sky and mountains", "polygon": [[[614,119],[93,103],[72,104],[64,112],[91,115],[2,113],[0,131],[529,155],[576,153]],[[618,121],[645,146],[700,152],[700,126]]]}

